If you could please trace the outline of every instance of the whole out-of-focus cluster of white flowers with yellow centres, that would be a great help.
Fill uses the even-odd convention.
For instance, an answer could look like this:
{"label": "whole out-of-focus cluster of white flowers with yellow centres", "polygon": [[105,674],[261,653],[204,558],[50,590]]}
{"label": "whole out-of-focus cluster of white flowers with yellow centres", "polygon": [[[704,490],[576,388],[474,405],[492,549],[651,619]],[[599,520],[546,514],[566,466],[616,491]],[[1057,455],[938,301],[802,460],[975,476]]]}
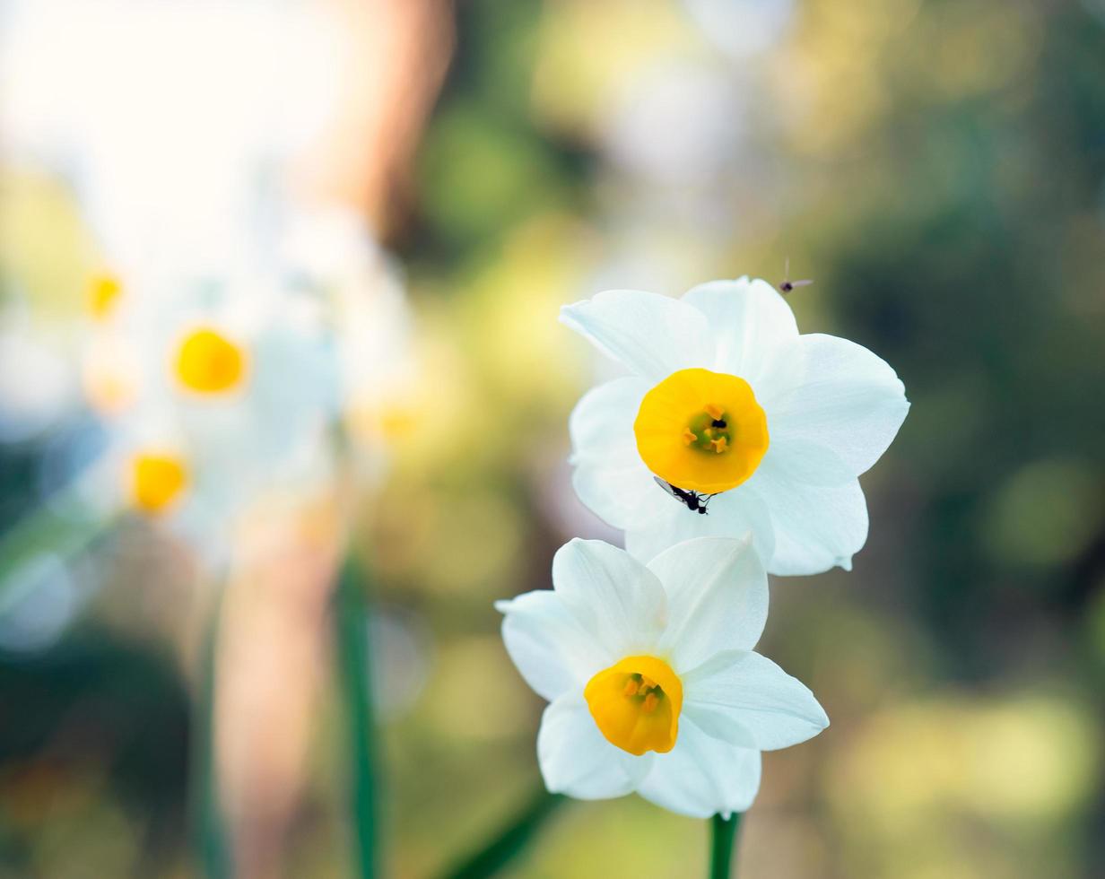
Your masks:
{"label": "whole out-of-focus cluster of white flowers with yellow centres", "polygon": [[355,428],[412,372],[397,273],[359,217],[284,217],[249,278],[92,279],[83,377],[107,442],[81,494],[104,515],[136,511],[219,553],[265,493],[346,479],[350,452],[358,475],[382,470],[382,437]]}

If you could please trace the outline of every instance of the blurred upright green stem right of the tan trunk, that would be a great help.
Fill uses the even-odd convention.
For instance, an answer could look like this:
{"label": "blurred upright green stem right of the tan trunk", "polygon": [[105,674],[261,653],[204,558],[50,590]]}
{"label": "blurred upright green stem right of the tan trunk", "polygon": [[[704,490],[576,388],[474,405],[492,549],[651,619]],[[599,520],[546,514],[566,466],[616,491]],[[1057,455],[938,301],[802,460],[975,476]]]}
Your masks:
{"label": "blurred upright green stem right of the tan trunk", "polygon": [[372,750],[372,702],[369,679],[368,614],[362,568],[351,558],[341,568],[336,627],[347,745],[352,766],[352,817],[357,840],[356,876],[377,875],[376,763]]}

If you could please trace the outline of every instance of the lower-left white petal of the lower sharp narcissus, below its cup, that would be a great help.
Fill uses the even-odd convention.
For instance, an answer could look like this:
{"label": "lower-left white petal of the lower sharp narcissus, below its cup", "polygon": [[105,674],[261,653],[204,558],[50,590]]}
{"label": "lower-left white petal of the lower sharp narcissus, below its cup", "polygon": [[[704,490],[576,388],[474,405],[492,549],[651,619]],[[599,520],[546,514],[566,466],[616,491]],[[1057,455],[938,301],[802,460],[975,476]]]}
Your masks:
{"label": "lower-left white petal of the lower sharp narcissus, below its cup", "polygon": [[652,755],[634,756],[608,742],[581,692],[565,693],[541,715],[537,762],[545,786],[578,799],[607,799],[636,789]]}

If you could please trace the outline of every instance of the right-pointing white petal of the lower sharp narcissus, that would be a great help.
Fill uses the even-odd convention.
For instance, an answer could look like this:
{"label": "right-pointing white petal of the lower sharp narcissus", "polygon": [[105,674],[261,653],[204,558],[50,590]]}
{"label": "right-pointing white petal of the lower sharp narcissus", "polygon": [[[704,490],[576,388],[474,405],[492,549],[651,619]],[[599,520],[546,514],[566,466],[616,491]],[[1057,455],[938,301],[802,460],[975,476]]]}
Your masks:
{"label": "right-pointing white petal of the lower sharp narcissus", "polygon": [[680,677],[683,715],[733,745],[774,751],[829,725],[809,688],[759,653],[718,653]]}

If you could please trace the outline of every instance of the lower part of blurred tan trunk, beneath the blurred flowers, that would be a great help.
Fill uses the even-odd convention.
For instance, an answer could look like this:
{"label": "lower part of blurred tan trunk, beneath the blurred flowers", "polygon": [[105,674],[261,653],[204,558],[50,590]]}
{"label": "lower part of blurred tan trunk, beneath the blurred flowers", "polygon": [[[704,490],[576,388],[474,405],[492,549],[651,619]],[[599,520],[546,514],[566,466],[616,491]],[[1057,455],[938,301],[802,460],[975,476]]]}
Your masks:
{"label": "lower part of blurred tan trunk, beneath the blurred flowers", "polygon": [[337,505],[257,512],[235,542],[217,646],[215,752],[236,875],[282,875],[329,666]]}

